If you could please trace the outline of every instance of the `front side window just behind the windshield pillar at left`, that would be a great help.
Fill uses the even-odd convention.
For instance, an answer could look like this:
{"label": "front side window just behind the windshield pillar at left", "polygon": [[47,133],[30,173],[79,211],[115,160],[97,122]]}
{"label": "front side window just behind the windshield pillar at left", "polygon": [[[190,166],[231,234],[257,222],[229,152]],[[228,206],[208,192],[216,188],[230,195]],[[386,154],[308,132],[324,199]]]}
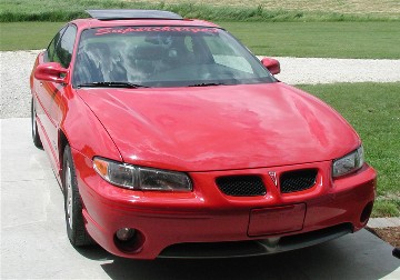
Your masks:
{"label": "front side window just behind the windshield pillar at left", "polygon": [[76,37],[76,27],[69,26],[66,32],[62,34],[61,40],[56,46],[53,61],[60,62],[63,68],[68,68],[71,62]]}

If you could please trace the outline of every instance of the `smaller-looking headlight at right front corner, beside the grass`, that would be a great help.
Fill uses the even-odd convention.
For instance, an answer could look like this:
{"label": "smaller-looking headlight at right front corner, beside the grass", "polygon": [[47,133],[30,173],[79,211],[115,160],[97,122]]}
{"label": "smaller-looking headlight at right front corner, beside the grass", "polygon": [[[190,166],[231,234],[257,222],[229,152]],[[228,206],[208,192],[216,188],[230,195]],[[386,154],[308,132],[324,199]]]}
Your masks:
{"label": "smaller-looking headlight at right front corner, beside the grass", "polygon": [[333,160],[332,177],[336,178],[354,172],[362,167],[363,162],[363,149],[360,146],[356,151],[343,158]]}

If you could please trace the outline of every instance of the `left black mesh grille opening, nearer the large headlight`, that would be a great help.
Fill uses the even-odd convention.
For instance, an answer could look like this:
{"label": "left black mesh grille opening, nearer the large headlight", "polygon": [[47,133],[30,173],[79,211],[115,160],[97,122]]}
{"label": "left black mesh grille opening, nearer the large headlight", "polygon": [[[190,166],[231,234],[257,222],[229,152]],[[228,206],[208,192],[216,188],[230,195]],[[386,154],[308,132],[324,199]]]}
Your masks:
{"label": "left black mesh grille opening, nearer the large headlight", "polygon": [[266,187],[258,176],[228,176],[216,180],[218,188],[228,196],[256,197],[266,194]]}

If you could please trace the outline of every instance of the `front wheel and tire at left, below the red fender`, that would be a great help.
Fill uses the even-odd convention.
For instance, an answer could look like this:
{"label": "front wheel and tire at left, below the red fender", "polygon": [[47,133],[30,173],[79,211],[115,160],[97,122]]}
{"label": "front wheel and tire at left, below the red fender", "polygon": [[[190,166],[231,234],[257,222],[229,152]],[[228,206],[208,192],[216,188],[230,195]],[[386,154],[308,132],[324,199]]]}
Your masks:
{"label": "front wheel and tire at left, below the red fender", "polygon": [[92,244],[93,240],[84,228],[84,221],[82,216],[82,201],[78,190],[71,148],[68,144],[63,152],[62,172],[68,239],[74,247],[84,247]]}

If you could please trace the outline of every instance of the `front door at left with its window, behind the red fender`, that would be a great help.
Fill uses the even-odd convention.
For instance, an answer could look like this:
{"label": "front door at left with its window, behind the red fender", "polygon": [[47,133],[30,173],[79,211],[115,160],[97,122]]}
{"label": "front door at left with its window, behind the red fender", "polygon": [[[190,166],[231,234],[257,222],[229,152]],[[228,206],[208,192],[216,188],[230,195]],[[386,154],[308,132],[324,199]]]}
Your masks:
{"label": "front door at left with its window, behind the red fender", "polygon": [[[77,37],[77,28],[69,24],[63,28],[50,43],[44,53],[43,62],[58,62],[61,67],[70,69],[73,44]],[[44,128],[44,148],[51,159],[51,163],[56,170],[60,169],[60,153],[58,151],[59,128],[62,120],[62,111],[64,110],[67,84],[50,81],[40,81],[38,92],[38,101],[41,110],[41,124]]]}

